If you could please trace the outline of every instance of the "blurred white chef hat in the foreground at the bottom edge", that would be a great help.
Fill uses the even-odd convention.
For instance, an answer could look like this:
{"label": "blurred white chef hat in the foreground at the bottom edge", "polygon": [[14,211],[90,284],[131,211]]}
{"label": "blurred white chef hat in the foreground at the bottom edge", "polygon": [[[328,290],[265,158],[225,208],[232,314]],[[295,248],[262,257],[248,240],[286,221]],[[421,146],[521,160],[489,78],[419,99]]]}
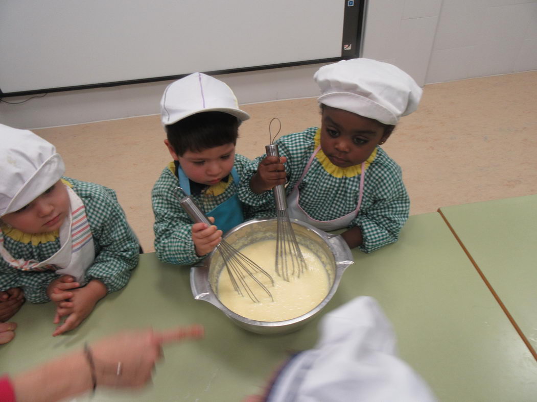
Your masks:
{"label": "blurred white chef hat in the foreground at the bottom edge", "polygon": [[432,402],[429,386],[397,357],[396,339],[378,303],[367,296],[323,317],[314,349],[278,375],[270,402]]}

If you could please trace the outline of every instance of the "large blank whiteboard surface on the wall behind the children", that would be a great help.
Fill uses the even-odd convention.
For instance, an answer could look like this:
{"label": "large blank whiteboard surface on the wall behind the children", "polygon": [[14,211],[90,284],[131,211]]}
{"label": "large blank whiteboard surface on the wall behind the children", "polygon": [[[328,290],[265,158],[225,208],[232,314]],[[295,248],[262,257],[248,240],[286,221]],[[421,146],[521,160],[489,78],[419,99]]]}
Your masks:
{"label": "large blank whiteboard surface on the wall behind the children", "polygon": [[341,0],[2,0],[0,91],[342,57]]}

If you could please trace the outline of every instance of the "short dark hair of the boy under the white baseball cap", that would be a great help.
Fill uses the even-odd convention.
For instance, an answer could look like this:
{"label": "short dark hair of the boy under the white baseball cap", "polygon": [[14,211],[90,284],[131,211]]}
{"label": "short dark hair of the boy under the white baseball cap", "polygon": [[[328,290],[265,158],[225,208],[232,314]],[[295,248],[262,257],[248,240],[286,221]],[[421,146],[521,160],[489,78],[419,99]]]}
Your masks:
{"label": "short dark hair of the boy under the white baseball cap", "polygon": [[222,111],[204,111],[166,125],[168,141],[180,157],[186,151],[200,152],[226,144],[237,143],[237,117]]}

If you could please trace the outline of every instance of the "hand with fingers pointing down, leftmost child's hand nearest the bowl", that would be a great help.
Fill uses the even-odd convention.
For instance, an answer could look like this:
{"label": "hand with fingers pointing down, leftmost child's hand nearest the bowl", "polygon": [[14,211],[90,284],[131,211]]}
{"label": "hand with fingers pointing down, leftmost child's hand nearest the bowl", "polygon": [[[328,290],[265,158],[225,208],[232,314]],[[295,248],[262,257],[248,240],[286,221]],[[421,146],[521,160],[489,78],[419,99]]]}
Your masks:
{"label": "hand with fingers pointing down, leftmost child's hand nearest the bowl", "polygon": [[[72,296],[69,300],[70,307],[56,306],[56,315],[54,316],[54,324],[60,324],[52,333],[55,337],[64,332],[75,329],[86,317],[93,311],[95,304],[106,296],[106,286],[99,280],[91,280],[88,285],[73,289]],[[63,317],[67,317],[63,324]]]}

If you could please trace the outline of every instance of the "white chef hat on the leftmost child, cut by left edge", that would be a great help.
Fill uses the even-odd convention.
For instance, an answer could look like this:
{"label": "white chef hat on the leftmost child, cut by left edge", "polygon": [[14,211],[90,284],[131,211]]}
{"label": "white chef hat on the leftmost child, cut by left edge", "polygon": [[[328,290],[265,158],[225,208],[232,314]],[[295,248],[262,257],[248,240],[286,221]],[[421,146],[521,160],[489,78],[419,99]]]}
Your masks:
{"label": "white chef hat on the leftmost child, cut by left edge", "polygon": [[0,217],[20,210],[65,172],[54,145],[28,130],[0,124]]}

